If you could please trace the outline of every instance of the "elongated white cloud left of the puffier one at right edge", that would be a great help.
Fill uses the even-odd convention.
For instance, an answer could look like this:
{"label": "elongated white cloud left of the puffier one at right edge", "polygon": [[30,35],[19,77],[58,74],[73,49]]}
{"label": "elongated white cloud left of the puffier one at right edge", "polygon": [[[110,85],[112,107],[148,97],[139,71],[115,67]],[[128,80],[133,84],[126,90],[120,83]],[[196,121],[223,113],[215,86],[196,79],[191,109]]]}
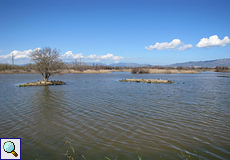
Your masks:
{"label": "elongated white cloud left of the puffier one at right edge", "polygon": [[168,42],[158,43],[157,42],[154,46],[150,45],[149,47],[145,47],[145,49],[147,49],[147,50],[153,50],[153,49],[157,49],[157,50],[170,49],[170,50],[172,50],[172,49],[177,48],[180,44],[182,44],[181,40],[174,39],[170,43],[168,43]]}

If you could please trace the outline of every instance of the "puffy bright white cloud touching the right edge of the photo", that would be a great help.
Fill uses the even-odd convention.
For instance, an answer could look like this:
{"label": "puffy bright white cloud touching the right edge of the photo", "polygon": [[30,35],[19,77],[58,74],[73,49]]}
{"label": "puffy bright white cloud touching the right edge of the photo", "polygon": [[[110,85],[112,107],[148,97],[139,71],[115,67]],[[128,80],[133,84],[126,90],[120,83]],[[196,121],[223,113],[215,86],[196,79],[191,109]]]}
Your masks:
{"label": "puffy bright white cloud touching the right edge of the photo", "polygon": [[200,42],[196,45],[199,48],[210,48],[215,46],[224,47],[230,43],[228,36],[220,40],[217,35],[210,36],[209,38],[202,38]]}

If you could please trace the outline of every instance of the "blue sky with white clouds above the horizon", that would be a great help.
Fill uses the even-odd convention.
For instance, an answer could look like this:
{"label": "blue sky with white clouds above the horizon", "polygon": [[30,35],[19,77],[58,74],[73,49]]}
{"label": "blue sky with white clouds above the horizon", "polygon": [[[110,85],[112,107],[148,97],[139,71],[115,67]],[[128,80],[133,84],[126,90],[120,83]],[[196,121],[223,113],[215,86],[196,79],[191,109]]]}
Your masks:
{"label": "blue sky with white clouds above the horizon", "polygon": [[0,63],[169,65],[230,58],[229,0],[0,0]]}

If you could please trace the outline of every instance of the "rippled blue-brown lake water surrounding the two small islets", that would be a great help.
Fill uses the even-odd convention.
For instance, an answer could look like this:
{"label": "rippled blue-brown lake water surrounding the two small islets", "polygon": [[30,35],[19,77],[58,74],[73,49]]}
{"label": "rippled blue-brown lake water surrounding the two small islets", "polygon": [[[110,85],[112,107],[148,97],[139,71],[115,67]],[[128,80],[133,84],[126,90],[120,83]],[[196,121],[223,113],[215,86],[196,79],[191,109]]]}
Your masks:
{"label": "rippled blue-brown lake water surrounding the two small islets", "polygon": [[[25,160],[64,160],[66,140],[90,160],[230,159],[230,78],[217,75],[64,74],[33,87],[17,85],[41,75],[0,75],[0,137],[20,137]],[[175,83],[119,82],[134,77]]]}

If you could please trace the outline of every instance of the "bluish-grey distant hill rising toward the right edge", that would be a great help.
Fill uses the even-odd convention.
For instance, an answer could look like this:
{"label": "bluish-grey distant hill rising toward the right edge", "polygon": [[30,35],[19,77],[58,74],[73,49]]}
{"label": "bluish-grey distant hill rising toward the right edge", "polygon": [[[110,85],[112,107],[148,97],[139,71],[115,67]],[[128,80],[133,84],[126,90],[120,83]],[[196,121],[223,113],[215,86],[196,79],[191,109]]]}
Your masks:
{"label": "bluish-grey distant hill rising toward the right edge", "polygon": [[170,67],[177,67],[177,66],[183,66],[183,67],[228,66],[228,67],[230,67],[230,58],[228,58],[228,59],[217,59],[217,60],[211,60],[211,61],[195,61],[195,62],[175,63],[175,64],[171,64],[168,66],[170,66]]}

